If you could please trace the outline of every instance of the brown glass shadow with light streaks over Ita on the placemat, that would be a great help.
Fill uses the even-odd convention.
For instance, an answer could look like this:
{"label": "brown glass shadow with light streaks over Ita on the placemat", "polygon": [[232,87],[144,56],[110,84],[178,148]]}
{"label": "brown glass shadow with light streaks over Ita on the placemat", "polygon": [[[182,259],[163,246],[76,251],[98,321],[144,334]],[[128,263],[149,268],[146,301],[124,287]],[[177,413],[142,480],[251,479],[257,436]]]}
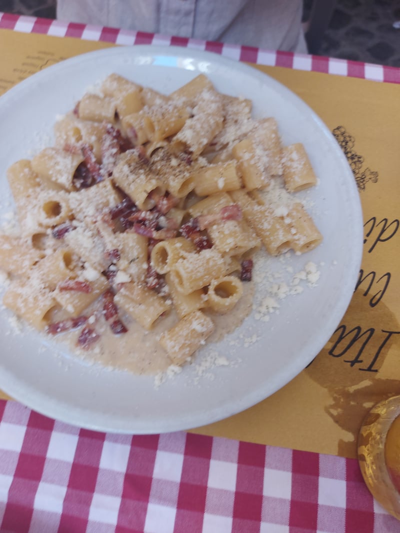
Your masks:
{"label": "brown glass shadow with light streaks over Ita on the placemat", "polygon": [[330,394],[325,413],[349,433],[349,440],[338,441],[338,454],[344,457],[354,455],[359,427],[371,407],[400,394],[397,361],[391,361],[393,379],[379,375],[388,354],[400,350],[400,324],[380,301],[372,326],[369,299],[364,293],[364,289],[356,290],[330,341],[305,370]]}

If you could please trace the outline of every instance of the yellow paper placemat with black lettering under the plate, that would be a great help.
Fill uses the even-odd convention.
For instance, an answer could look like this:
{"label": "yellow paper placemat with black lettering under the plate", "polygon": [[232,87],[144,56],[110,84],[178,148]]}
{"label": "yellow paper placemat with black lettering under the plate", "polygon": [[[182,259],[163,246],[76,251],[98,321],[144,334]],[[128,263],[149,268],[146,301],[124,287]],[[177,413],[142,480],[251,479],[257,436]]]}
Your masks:
{"label": "yellow paper placemat with black lettering under the plate", "polygon": [[[48,64],[110,45],[0,30],[0,46],[4,92]],[[258,405],[193,431],[355,457],[367,410],[400,394],[400,85],[256,68],[305,100],[341,144],[363,206],[362,271],[345,317],[307,369]]]}

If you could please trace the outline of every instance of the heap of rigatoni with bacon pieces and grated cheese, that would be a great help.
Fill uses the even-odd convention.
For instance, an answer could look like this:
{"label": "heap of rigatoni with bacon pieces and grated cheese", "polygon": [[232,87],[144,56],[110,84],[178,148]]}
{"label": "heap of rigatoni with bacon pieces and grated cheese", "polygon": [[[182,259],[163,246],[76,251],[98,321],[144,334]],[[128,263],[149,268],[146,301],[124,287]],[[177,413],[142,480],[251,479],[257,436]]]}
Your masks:
{"label": "heap of rigatoni with bacon pieces and grated cheese", "polygon": [[321,243],[295,196],[316,184],[303,145],[203,74],[169,95],[110,74],[54,138],[7,172],[19,233],[0,234],[3,303],[78,350],[110,335],[116,354],[138,325],[183,365],[240,305],[254,254]]}

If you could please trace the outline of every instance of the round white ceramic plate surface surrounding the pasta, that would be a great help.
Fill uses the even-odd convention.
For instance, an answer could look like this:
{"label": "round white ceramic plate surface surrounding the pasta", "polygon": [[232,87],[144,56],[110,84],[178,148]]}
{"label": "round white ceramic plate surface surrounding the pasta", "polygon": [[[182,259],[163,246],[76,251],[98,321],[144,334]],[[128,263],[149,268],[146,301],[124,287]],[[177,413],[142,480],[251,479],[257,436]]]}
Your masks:
{"label": "round white ceramic plate surface surrounding the pasta", "polygon": [[[189,429],[238,413],[280,389],[323,348],[345,313],[362,254],[362,213],[354,177],[330,131],[286,87],[245,64],[178,47],[118,47],[77,56],[23,81],[0,98],[0,215],[12,207],[5,169],[50,146],[55,117],[111,72],[168,93],[204,72],[215,87],[253,101],[254,116],[275,116],[284,144],[303,142],[319,179],[307,193],[324,241],[314,251],[279,259],[279,273],[318,266],[317,286],[278,300],[268,322],[255,319],[212,346],[231,365],[198,376],[196,365],[163,385],[154,378],[90,366],[23,329],[10,331],[0,310],[0,387],[47,416],[95,430],[158,433]],[[10,203],[11,202],[11,203]],[[288,269],[288,267],[290,267]],[[292,276],[292,274],[290,274]],[[289,278],[290,278],[289,276]],[[287,280],[290,283],[290,279]],[[303,285],[305,282],[303,282]],[[305,284],[306,285],[306,284]],[[258,298],[263,296],[258,289]],[[201,361],[202,354],[199,354]],[[203,365],[204,366],[204,365]]]}

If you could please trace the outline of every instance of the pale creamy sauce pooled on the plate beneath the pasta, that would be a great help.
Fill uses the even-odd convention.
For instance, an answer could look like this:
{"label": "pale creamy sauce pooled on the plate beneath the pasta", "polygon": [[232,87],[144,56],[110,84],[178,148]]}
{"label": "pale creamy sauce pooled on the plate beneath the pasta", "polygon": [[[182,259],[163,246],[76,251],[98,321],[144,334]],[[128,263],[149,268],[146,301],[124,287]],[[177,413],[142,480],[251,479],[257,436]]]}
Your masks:
{"label": "pale creamy sauce pooled on the plate beneath the pasta", "polygon": [[[206,346],[221,341],[226,335],[233,332],[242,324],[252,310],[254,283],[244,283],[243,296],[234,309],[227,314],[217,314],[204,310],[215,324],[215,330],[206,341]],[[128,370],[133,374],[157,374],[165,372],[171,365],[171,360],[165,350],[158,343],[159,336],[167,329],[174,326],[178,317],[172,310],[167,316],[156,321],[153,329],[147,331],[126,314],[121,314],[121,319],[127,327],[127,333],[114,335],[105,320],[100,319],[93,325],[100,334],[100,338],[90,350],[76,348],[79,332],[60,334],[60,341],[66,342],[69,349],[78,357],[98,363],[108,368]],[[80,330],[79,330],[80,331]],[[193,356],[196,357],[196,354]]]}

